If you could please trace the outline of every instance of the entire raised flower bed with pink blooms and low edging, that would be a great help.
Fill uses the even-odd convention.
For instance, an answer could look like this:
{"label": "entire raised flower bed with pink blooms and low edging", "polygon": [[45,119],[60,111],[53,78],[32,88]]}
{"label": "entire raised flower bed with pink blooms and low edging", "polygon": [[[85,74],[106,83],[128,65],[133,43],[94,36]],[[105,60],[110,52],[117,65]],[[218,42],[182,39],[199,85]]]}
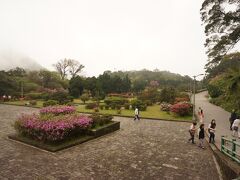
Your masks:
{"label": "entire raised flower bed with pink blooms and low edging", "polygon": [[86,116],[75,111],[70,106],[52,106],[41,109],[40,114],[22,114],[14,124],[17,134],[8,137],[55,152],[120,128],[119,122],[111,121],[112,116]]}

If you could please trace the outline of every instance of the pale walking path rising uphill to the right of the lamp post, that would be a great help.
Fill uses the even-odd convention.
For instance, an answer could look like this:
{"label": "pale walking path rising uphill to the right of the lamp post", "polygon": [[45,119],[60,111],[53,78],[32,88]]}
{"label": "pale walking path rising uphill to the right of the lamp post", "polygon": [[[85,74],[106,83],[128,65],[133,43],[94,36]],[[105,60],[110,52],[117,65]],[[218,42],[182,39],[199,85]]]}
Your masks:
{"label": "pale walking path rising uphill to the right of the lamp post", "polygon": [[[206,97],[207,94],[207,91],[196,94],[196,111],[199,107],[202,107],[205,116],[205,128],[208,127],[212,119],[216,120],[217,126],[215,134],[215,144],[219,149],[221,149],[221,136],[226,136],[230,139],[233,138],[232,131],[230,131],[229,123],[230,113],[219,106],[209,103],[208,98]],[[237,138],[237,141],[240,142],[240,139]]]}

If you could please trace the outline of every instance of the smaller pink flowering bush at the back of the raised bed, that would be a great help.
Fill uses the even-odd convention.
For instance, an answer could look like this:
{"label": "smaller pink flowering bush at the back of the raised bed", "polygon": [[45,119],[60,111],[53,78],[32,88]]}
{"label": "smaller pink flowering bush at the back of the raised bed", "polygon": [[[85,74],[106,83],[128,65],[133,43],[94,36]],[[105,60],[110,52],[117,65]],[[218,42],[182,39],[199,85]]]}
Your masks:
{"label": "smaller pink flowering bush at the back of the raised bed", "polygon": [[71,114],[76,112],[76,108],[73,106],[48,106],[40,110],[40,114],[53,114],[53,115],[62,115],[62,114]]}

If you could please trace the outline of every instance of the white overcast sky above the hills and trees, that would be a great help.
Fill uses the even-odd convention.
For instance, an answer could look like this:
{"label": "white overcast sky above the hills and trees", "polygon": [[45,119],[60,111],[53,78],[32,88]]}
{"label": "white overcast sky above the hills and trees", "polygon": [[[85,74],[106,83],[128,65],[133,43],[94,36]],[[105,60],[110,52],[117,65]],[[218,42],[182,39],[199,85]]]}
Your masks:
{"label": "white overcast sky above the hills and trees", "polygon": [[[0,50],[42,66],[80,61],[105,70],[204,73],[200,0],[0,0]],[[3,60],[1,60],[3,61]]]}

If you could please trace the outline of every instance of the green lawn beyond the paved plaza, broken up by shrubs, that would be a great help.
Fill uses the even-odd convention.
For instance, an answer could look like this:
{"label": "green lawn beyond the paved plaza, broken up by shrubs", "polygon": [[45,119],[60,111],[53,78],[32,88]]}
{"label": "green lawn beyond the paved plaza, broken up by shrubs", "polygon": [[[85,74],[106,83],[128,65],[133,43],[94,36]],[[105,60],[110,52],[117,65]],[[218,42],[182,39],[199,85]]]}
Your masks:
{"label": "green lawn beyond the paved plaza, broken up by shrubs", "polygon": [[[25,106],[26,103],[29,101],[11,101],[11,102],[5,102],[5,104],[11,104],[11,105],[20,105],[20,106]],[[80,102],[75,100],[75,102]],[[32,107],[42,107],[43,106],[43,101],[39,100],[37,101],[36,106]],[[94,110],[92,109],[85,109],[84,104],[76,104],[77,111],[82,112],[82,113],[93,113]],[[119,116],[134,116],[134,110],[121,110],[121,114],[117,114],[117,110],[100,110],[99,113],[101,114],[111,114],[111,115],[119,115]],[[176,116],[175,114],[172,113],[167,113],[165,111],[160,110],[159,105],[153,105],[153,106],[148,106],[147,111],[140,111],[140,117],[141,118],[156,118],[156,119],[167,119],[167,120],[192,120],[192,116]]]}

